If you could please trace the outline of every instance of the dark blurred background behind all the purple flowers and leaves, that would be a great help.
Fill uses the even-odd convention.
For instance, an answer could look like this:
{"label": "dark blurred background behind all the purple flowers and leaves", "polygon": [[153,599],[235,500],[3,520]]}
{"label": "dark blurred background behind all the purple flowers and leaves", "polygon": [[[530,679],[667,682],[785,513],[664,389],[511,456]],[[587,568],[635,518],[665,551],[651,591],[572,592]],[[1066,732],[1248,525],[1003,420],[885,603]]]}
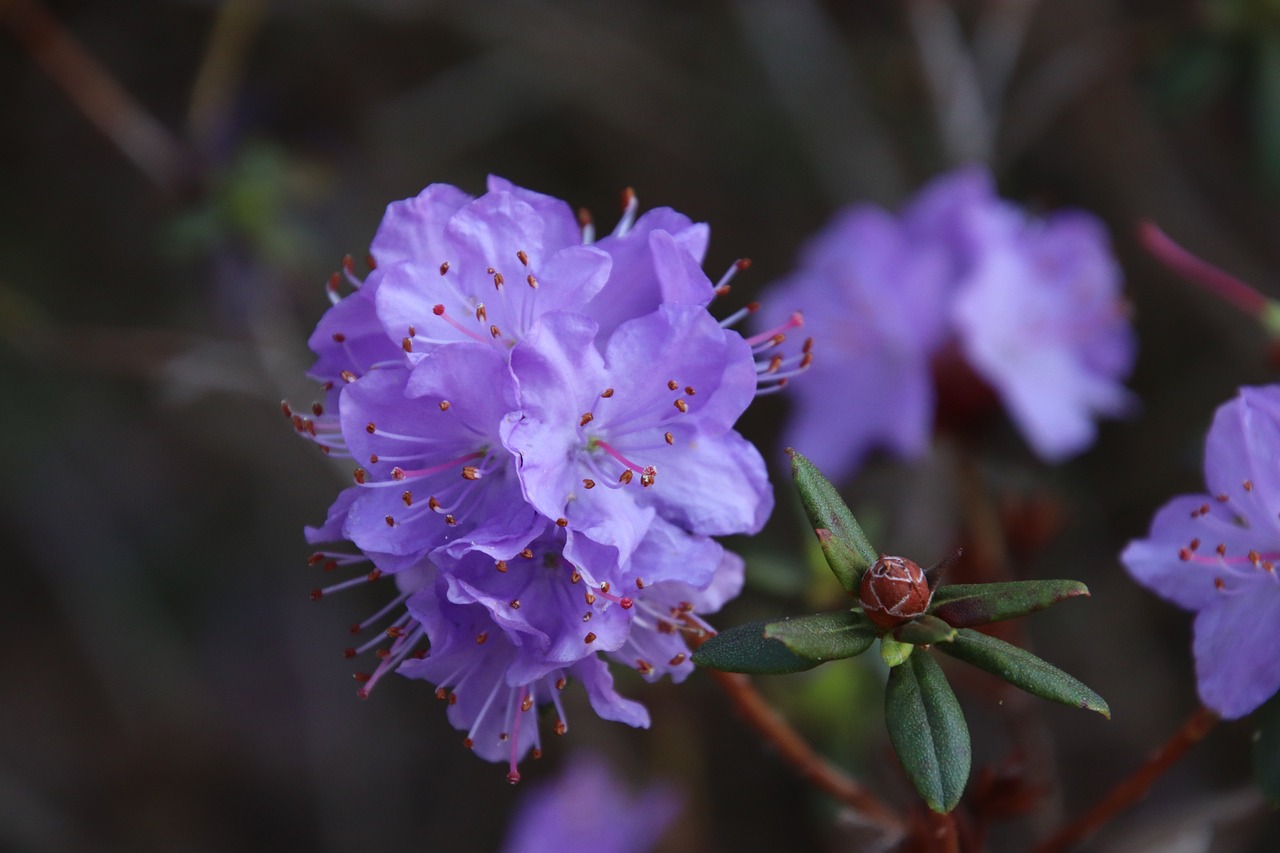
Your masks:
{"label": "dark blurred background behind all the purple flowers and leaves", "polygon": [[[356,698],[347,625],[380,598],[308,602],[301,534],[349,471],[279,400],[314,397],[324,282],[364,257],[384,205],[430,182],[479,193],[486,173],[603,231],[628,186],[709,222],[712,278],[754,260],[736,304],[837,206],[896,205],[972,159],[1033,209],[1101,215],[1142,411],[1056,467],[996,421],[968,461],[945,442],[878,460],[849,497],[887,551],[932,562],[997,519],[1014,575],[1093,590],[1023,630],[1110,722],[1002,704],[956,672],[974,779],[1047,785],[993,849],[1083,811],[1194,710],[1189,615],[1116,555],[1201,488],[1213,409],[1275,369],[1261,329],[1147,259],[1133,227],[1155,218],[1280,295],[1276,3],[0,0],[0,849],[489,850],[521,790],[586,748],[684,789],[664,850],[863,848],[704,676],[622,676],[648,733],[579,702],[515,789],[428,685]],[[733,543],[750,589],[721,625],[838,606],[783,479],[783,411],[773,397],[741,425],[780,501]],[[882,679],[859,660],[760,686],[905,806]],[[1217,729],[1093,849],[1274,849],[1251,734]]]}

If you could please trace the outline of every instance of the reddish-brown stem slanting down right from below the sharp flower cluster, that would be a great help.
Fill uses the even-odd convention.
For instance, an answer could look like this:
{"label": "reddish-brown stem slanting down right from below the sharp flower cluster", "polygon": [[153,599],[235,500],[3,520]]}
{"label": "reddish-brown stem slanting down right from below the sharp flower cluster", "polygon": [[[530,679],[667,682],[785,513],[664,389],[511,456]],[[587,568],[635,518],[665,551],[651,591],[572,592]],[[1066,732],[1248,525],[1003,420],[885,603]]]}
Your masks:
{"label": "reddish-brown stem slanting down right from below the sharp flower cluster", "polygon": [[750,679],[736,672],[709,671],[746,721],[764,735],[777,748],[783,761],[795,767],[806,781],[855,809],[887,834],[895,838],[902,835],[904,826],[899,816],[847,774],[814,752],[813,747],[751,686]]}

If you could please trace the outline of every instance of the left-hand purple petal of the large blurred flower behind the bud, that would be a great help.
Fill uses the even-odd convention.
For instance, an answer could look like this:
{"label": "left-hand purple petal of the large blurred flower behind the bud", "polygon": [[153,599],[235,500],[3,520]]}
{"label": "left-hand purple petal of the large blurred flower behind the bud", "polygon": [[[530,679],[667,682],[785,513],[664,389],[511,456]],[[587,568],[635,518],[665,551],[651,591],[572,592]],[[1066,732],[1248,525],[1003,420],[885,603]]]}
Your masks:
{"label": "left-hand purple petal of the large blurred flower behind the bud", "polygon": [[786,441],[841,480],[873,448],[924,452],[933,429],[931,359],[945,334],[946,254],[887,213],[854,207],[771,289],[760,328],[805,316],[814,364],[788,388]]}

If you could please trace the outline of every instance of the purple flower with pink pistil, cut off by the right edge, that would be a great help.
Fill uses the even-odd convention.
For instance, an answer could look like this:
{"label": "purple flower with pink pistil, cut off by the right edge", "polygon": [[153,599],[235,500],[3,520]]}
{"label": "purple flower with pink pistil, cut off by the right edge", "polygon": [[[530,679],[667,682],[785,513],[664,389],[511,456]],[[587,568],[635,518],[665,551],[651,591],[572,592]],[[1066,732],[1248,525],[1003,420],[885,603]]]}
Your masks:
{"label": "purple flower with pink pistil, cut off by the right edge", "polygon": [[1201,701],[1228,720],[1280,690],[1280,386],[1242,388],[1204,441],[1210,494],[1165,505],[1120,555],[1156,594],[1196,611]]}

